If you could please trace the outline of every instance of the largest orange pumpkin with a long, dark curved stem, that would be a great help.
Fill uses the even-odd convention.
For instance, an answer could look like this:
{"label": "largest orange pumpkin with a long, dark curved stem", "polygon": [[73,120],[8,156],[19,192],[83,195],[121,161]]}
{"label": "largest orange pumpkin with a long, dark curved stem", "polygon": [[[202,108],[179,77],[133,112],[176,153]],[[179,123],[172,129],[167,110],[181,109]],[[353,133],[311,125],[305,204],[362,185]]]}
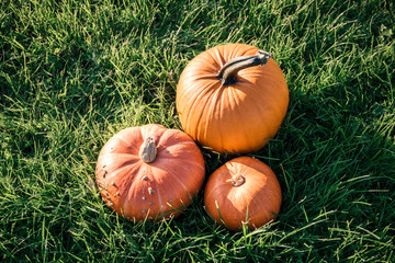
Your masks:
{"label": "largest orange pumpkin with a long, dark curved stem", "polygon": [[289,105],[283,72],[269,53],[227,44],[199,54],[182,71],[176,106],[182,129],[221,153],[260,150]]}

